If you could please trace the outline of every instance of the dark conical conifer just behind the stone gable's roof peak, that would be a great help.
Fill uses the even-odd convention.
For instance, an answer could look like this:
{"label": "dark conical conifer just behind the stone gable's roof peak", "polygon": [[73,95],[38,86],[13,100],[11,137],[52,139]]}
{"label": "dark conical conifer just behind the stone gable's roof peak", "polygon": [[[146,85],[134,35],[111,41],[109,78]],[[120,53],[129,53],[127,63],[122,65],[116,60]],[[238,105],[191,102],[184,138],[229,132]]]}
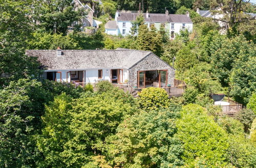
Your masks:
{"label": "dark conical conifer just behind the stone gable's roof peak", "polygon": [[140,25],[135,44],[136,49],[152,51],[158,55],[158,57],[161,57],[163,53],[162,38],[154,26],[148,29],[146,24]]}

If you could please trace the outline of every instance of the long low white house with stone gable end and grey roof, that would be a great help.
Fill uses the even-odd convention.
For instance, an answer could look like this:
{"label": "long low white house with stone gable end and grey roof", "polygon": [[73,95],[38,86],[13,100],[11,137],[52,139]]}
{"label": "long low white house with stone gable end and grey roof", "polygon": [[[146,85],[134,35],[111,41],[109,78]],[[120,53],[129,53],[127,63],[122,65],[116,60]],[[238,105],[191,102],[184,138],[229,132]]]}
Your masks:
{"label": "long low white house with stone gable end and grey roof", "polygon": [[44,78],[61,82],[108,80],[136,88],[173,87],[175,70],[151,51],[27,50],[44,69]]}

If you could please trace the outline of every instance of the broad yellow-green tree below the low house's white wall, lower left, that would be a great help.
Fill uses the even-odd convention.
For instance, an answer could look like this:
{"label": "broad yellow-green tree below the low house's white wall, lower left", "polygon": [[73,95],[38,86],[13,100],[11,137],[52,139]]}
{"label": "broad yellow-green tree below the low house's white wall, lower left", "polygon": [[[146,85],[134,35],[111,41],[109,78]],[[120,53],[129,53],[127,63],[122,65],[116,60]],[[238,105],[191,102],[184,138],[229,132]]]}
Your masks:
{"label": "broad yellow-green tree below the low house's white wall, lower left", "polygon": [[40,165],[80,167],[93,161],[102,153],[105,139],[135,113],[134,104],[130,95],[118,89],[72,100],[66,95],[56,97],[46,107],[45,127],[37,138],[44,155]]}

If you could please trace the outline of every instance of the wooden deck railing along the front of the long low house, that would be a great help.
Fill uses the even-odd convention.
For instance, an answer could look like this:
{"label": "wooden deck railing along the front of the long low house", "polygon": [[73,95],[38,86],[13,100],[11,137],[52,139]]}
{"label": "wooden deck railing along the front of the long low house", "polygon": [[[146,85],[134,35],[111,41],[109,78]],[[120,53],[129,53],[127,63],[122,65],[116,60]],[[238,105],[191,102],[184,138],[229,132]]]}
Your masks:
{"label": "wooden deck railing along the front of the long low house", "polygon": [[[76,82],[75,84],[78,85],[78,86],[81,86],[81,87],[89,85],[89,83],[84,83],[84,82]],[[90,84],[93,86],[93,90],[97,91],[96,83],[90,83]],[[186,83],[184,81],[175,79],[175,84],[176,84],[175,87],[165,87],[165,88],[163,88],[167,92],[169,97],[182,96],[183,93],[185,92]],[[130,85],[126,85],[126,84],[114,84],[114,83],[112,83],[112,85],[114,87],[117,87],[117,88],[123,90],[126,93],[131,94],[133,97],[138,97],[138,93],[141,92],[142,89],[143,89],[143,88],[133,88]]]}

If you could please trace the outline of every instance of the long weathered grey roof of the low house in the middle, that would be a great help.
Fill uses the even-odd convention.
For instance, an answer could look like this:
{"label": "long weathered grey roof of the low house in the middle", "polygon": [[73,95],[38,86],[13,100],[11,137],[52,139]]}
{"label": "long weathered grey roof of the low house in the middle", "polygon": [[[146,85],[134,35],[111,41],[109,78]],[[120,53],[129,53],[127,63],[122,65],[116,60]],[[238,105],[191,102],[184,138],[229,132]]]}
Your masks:
{"label": "long weathered grey roof of the low house in the middle", "polygon": [[[150,51],[119,48],[117,50],[27,50],[47,70],[78,70],[93,68],[131,68]],[[157,56],[156,56],[157,57]]]}

